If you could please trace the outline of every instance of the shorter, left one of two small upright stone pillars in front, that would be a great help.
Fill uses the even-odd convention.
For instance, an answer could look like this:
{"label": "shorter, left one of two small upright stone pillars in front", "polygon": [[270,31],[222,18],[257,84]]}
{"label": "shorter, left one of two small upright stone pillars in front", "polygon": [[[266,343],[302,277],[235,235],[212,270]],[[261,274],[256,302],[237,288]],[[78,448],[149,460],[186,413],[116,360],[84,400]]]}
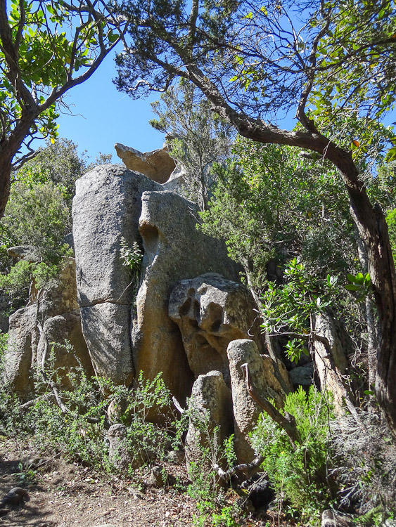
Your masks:
{"label": "shorter, left one of two small upright stone pillars in front", "polygon": [[[191,417],[186,436],[188,466],[193,461],[202,461],[200,447],[206,447],[210,441],[219,447],[234,429],[231,390],[226,386],[221,372],[199,375],[193,384],[189,401]],[[215,427],[219,427],[217,434],[214,434]]]}

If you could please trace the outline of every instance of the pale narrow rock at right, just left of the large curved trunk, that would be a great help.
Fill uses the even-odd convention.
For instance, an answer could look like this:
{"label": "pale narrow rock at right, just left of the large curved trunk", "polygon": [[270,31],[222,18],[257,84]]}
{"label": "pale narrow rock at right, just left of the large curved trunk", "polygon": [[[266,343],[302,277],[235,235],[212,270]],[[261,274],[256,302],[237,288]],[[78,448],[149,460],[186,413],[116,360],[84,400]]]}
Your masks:
{"label": "pale narrow rock at right, just left of the large curved trunk", "polygon": [[351,340],[342,325],[326,313],[317,316],[315,328],[317,334],[325,337],[329,344],[326,349],[322,342],[314,342],[314,362],[321,389],[331,391],[336,410],[342,410],[348,391],[345,379],[347,354],[352,349]]}

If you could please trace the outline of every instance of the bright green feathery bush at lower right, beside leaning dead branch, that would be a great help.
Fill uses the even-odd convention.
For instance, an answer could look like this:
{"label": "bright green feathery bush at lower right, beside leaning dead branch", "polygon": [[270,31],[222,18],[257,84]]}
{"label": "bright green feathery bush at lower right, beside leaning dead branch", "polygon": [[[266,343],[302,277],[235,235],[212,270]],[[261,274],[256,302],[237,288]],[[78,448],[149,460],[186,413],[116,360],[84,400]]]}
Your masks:
{"label": "bright green feathery bush at lower right, beside leaning dead branch", "polygon": [[[311,525],[319,523],[328,505],[328,426],[332,416],[328,396],[311,386],[289,393],[283,412],[295,417],[301,443],[292,445],[286,431],[267,414],[260,415],[251,434],[253,447],[264,457],[267,471],[279,499],[289,512],[296,512]],[[282,498],[283,497],[283,498]]]}

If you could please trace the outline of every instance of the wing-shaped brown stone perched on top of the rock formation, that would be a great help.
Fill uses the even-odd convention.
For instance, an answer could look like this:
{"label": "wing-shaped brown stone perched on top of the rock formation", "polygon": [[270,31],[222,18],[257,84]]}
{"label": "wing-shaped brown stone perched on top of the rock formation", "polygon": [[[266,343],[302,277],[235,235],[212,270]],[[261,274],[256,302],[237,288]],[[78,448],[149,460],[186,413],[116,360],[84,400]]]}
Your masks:
{"label": "wing-shaped brown stone perched on top of the rock formation", "polygon": [[121,143],[115,143],[114,148],[127,169],[140,172],[157,183],[165,183],[176,167],[166,146],[144,153]]}

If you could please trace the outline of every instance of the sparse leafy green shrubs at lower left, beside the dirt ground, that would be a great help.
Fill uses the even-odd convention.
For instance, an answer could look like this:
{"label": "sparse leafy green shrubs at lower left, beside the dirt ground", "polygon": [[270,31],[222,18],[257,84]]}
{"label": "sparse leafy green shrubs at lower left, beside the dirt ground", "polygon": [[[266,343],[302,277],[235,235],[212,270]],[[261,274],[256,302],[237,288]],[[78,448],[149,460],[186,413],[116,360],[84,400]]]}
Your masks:
{"label": "sparse leafy green shrubs at lower left, beside the dirt ground", "polygon": [[[0,344],[3,341],[2,338]],[[70,346],[66,348],[70,352]],[[162,458],[170,443],[176,441],[175,427],[171,422],[169,427],[160,427],[149,421],[151,412],[165,414],[171,405],[170,392],[160,374],[148,381],[143,379],[141,372],[134,389],[129,390],[126,386],[115,386],[107,379],[89,378],[82,367],[77,367],[68,373],[70,389],[61,389],[60,372],[53,370],[52,351],[45,370],[46,379],[55,383],[67,412],[56,403],[50,381],[44,381],[42,377],[36,382],[36,392],[40,395],[24,412],[20,411],[18,398],[2,386],[0,433],[21,439],[29,436],[41,450],[62,453],[68,460],[79,460],[109,471],[106,434],[111,423],[108,422],[107,410],[113,403],[117,422],[124,422],[127,427],[129,450],[136,461],[132,463],[134,466]]]}

